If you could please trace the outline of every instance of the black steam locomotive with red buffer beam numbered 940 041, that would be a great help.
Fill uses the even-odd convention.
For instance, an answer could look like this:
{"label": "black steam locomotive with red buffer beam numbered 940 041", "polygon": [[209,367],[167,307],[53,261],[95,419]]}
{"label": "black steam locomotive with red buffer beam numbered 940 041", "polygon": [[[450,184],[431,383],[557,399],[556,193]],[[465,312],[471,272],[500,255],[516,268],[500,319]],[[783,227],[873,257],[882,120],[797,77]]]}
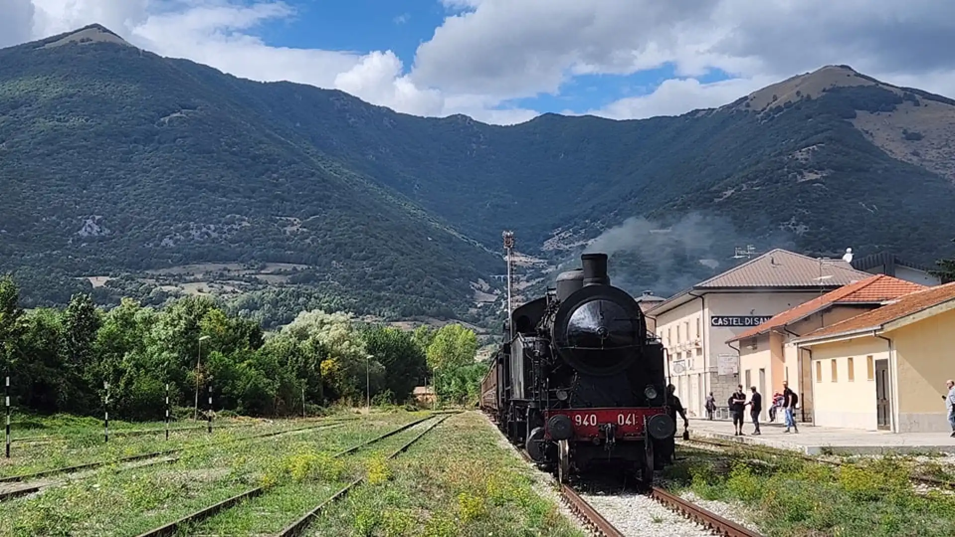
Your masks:
{"label": "black steam locomotive with red buffer beam numbered 940 041", "polygon": [[515,309],[481,383],[482,410],[561,482],[600,465],[650,482],[674,445],[663,346],[606,262],[582,255]]}

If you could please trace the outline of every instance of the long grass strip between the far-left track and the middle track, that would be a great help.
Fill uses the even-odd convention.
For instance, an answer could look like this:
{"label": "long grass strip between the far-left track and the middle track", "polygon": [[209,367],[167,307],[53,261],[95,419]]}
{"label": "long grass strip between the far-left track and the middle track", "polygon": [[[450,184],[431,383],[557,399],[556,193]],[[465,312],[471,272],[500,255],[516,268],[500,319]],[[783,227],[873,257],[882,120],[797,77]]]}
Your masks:
{"label": "long grass strip between the far-left track and the middle track", "polygon": [[[0,535],[135,535],[255,486],[273,489],[324,475],[316,470],[321,464],[302,454],[316,446],[333,450],[369,440],[395,422],[411,420],[402,414],[361,419],[345,433],[346,427],[303,431],[200,447],[184,452],[174,463],[108,468],[0,504]],[[311,501],[309,492],[321,490],[299,489],[304,493],[301,503]]]}

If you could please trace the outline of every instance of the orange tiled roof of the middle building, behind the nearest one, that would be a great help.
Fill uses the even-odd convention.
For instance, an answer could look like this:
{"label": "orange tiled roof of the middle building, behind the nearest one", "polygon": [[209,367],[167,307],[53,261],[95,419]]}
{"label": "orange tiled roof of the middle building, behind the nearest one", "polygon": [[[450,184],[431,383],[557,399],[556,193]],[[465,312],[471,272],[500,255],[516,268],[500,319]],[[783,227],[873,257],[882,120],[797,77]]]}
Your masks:
{"label": "orange tiled roof of the middle building, behind the nearest one", "polygon": [[767,333],[775,328],[804,319],[816,311],[834,304],[880,304],[924,289],[927,288],[919,284],[906,282],[885,274],[876,274],[854,284],[842,286],[838,290],[829,291],[791,310],[782,311],[765,323],[739,335],[734,335],[727,340],[727,343]]}

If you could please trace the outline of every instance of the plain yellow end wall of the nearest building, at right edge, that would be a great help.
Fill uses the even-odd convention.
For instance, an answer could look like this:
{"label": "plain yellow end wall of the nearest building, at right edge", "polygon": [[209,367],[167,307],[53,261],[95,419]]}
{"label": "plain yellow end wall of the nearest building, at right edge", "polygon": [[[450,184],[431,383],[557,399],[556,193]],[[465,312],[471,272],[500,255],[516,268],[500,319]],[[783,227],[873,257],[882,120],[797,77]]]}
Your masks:
{"label": "plain yellow end wall of the nearest building, at right edge", "polygon": [[892,339],[898,361],[899,432],[950,431],[942,397],[945,380],[955,377],[955,310],[883,336]]}

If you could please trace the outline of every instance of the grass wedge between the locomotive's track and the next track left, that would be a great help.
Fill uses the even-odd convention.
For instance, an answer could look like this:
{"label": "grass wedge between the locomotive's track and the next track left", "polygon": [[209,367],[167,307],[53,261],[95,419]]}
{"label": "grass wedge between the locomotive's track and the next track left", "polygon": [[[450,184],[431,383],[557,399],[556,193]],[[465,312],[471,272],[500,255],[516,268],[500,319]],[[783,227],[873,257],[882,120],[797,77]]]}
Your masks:
{"label": "grass wedge between the locomotive's track and the next track left", "polygon": [[322,537],[584,535],[535,489],[533,470],[477,412],[445,420],[312,524]]}

